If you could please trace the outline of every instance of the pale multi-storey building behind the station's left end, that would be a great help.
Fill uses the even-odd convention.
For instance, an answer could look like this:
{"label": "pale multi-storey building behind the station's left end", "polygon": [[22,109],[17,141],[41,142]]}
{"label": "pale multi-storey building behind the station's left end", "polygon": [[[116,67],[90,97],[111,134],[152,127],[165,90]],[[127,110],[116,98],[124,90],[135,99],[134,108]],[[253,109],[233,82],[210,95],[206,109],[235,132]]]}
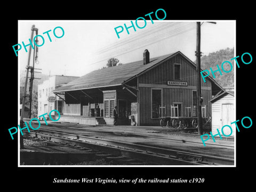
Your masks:
{"label": "pale multi-storey building behind the station's left end", "polygon": [[[42,84],[39,84],[37,116],[41,116],[45,113],[49,114],[53,109],[57,109],[60,114],[62,114],[63,100],[52,93],[52,91],[76,78],[78,77],[54,75],[49,77],[49,79],[44,81]],[[50,102],[48,100],[49,97],[56,98],[56,101]],[[45,117],[48,118],[48,116]],[[39,119],[43,119],[43,117],[40,117]]]}

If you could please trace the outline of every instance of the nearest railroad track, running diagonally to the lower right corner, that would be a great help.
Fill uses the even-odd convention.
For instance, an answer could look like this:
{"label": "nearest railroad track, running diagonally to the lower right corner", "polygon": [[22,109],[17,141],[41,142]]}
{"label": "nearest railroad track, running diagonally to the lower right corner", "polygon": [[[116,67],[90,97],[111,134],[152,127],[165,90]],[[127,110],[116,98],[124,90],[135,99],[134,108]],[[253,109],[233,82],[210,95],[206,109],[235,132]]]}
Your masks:
{"label": "nearest railroad track, running diagonally to the lower right corner", "polygon": [[145,162],[148,165],[234,165],[234,159],[226,157],[215,157],[182,150],[99,139],[42,128],[30,133],[26,132],[26,135],[47,139],[51,142],[65,143],[70,146],[104,151],[115,156],[137,159],[138,162]]}

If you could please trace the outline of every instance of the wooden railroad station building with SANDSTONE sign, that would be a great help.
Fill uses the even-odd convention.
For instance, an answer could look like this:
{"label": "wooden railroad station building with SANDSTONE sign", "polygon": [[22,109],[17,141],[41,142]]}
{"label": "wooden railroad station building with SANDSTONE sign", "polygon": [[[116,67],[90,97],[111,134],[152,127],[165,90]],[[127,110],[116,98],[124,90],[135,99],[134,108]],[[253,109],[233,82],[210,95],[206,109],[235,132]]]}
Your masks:
{"label": "wooden railroad station building with SANDSTONE sign", "polygon": [[[141,54],[142,56],[142,54]],[[202,116],[211,117],[210,100],[223,88],[210,76],[202,83]],[[163,116],[195,117],[196,65],[180,51],[92,71],[54,90],[60,121],[87,125],[159,126]]]}

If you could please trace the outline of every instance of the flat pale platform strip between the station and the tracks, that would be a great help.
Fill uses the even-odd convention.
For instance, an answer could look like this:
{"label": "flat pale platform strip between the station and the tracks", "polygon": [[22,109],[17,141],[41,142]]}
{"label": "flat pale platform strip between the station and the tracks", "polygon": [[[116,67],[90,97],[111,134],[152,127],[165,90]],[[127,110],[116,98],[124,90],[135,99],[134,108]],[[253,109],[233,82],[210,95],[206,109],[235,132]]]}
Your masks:
{"label": "flat pale platform strip between the station and the tracks", "polygon": [[[51,123],[51,125],[56,125],[55,123]],[[91,134],[94,135],[94,132],[97,132],[99,135],[98,137],[106,137],[104,133],[113,132],[115,134],[123,135],[124,137],[127,136],[150,136],[150,137],[159,137],[163,139],[176,139],[182,142],[195,142],[195,143],[202,143],[201,135],[195,133],[184,133],[182,130],[177,131],[177,129],[173,129],[172,127],[161,127],[161,126],[132,126],[132,125],[98,125],[98,126],[91,126],[91,125],[79,125],[69,122],[61,122],[58,126],[63,128],[71,127],[75,128],[77,133],[81,133],[78,130],[84,131],[91,131]],[[68,130],[67,130],[68,131]],[[100,133],[101,132],[101,133]],[[82,132],[82,134],[84,134]],[[96,136],[96,135],[95,135]],[[223,146],[230,146],[234,147],[235,145],[235,138],[234,137],[223,137],[220,139],[219,136],[214,137],[215,142],[213,141],[211,135],[210,139],[205,141],[205,145],[223,145]],[[204,139],[207,137],[205,136]]]}

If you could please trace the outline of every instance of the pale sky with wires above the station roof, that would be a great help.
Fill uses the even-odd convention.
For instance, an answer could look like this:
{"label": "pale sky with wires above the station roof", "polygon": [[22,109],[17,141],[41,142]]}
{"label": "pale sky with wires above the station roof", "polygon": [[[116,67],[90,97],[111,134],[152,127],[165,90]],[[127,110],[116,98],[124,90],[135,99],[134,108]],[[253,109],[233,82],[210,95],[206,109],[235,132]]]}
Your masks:
{"label": "pale sky with wires above the station roof", "polygon": [[[201,20],[201,51],[203,55],[221,49],[235,47],[235,21],[217,20],[212,24]],[[29,44],[31,26],[38,28],[38,35],[44,38],[44,44],[38,49],[38,64],[45,75],[83,76],[93,70],[105,67],[107,60],[115,57],[121,63],[142,60],[142,54],[148,49],[150,58],[181,51],[190,60],[195,61],[196,21],[147,20],[138,21],[136,31],[129,28],[127,34],[124,23],[131,26],[131,20],[19,20],[17,44]],[[115,27],[122,26],[117,37]],[[53,34],[56,27],[62,27],[65,34],[57,38]],[[45,31],[49,31],[52,42]],[[121,28],[117,28],[117,31]],[[62,35],[56,28],[57,36]],[[35,34],[34,34],[35,36]],[[38,45],[42,38],[38,36]],[[27,46],[27,50],[29,46]],[[17,49],[17,48],[16,48]],[[32,50],[34,51],[34,50]],[[15,53],[13,51],[15,56]],[[28,52],[24,47],[18,51],[19,70],[28,65]],[[33,52],[31,52],[33,58]],[[231,59],[231,58],[230,58]],[[30,66],[33,60],[30,59]],[[36,75],[35,75],[36,76]]]}

